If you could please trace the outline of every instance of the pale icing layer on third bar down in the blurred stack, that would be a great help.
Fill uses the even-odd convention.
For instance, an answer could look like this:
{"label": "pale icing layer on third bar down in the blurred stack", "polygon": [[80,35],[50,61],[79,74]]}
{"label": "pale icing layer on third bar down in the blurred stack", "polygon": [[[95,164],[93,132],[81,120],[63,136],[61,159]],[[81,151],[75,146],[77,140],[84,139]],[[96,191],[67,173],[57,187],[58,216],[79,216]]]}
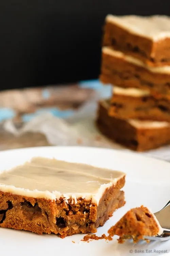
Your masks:
{"label": "pale icing layer on third bar down in the blurred stack", "polygon": [[150,92],[147,90],[141,90],[138,88],[122,88],[114,85],[113,94],[132,96],[132,97],[144,97],[144,96],[149,96]]}

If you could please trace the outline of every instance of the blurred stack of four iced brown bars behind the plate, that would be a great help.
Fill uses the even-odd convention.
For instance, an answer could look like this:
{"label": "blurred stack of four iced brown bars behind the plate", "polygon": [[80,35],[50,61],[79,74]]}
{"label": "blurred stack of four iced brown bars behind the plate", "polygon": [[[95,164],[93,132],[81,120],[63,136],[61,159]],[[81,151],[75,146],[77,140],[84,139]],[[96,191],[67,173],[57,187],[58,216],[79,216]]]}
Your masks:
{"label": "blurred stack of four iced brown bars behind the plate", "polygon": [[100,80],[113,85],[97,125],[136,151],[170,143],[170,17],[105,19]]}

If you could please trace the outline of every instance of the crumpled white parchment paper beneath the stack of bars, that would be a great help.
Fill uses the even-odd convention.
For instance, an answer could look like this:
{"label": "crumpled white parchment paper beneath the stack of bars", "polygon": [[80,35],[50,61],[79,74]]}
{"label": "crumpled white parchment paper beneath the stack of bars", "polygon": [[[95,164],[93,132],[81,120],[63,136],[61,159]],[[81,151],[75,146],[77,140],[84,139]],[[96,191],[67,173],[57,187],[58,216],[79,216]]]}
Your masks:
{"label": "crumpled white parchment paper beneath the stack of bars", "polygon": [[[65,120],[54,117],[47,112],[33,118],[20,129],[15,128],[12,120],[4,122],[3,128],[16,136],[28,131],[44,133],[52,145],[104,147],[130,152],[130,150],[102,136],[95,126],[96,112],[97,99],[87,102],[75,114]],[[139,154],[170,161],[170,146]]]}

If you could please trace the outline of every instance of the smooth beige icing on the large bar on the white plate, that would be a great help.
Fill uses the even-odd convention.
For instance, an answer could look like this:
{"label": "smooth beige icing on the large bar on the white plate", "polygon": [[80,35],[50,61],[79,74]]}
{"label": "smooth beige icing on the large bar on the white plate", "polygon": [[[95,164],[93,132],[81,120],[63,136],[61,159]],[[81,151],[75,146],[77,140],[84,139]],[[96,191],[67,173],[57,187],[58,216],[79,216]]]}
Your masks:
{"label": "smooth beige icing on the large bar on the white plate", "polygon": [[105,189],[116,185],[124,175],[120,171],[36,157],[24,165],[3,171],[0,190],[51,200],[72,198],[72,203],[83,197],[98,204]]}

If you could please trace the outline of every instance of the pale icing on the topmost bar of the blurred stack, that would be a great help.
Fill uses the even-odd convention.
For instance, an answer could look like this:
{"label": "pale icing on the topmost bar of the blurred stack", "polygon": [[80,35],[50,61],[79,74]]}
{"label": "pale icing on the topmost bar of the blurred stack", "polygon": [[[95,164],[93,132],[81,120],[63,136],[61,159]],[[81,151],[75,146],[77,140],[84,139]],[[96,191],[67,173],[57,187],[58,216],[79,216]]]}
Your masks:
{"label": "pale icing on the topmost bar of the blurred stack", "polygon": [[106,22],[111,22],[130,33],[149,38],[153,41],[170,37],[170,17],[154,15],[148,17],[127,15],[107,15]]}

